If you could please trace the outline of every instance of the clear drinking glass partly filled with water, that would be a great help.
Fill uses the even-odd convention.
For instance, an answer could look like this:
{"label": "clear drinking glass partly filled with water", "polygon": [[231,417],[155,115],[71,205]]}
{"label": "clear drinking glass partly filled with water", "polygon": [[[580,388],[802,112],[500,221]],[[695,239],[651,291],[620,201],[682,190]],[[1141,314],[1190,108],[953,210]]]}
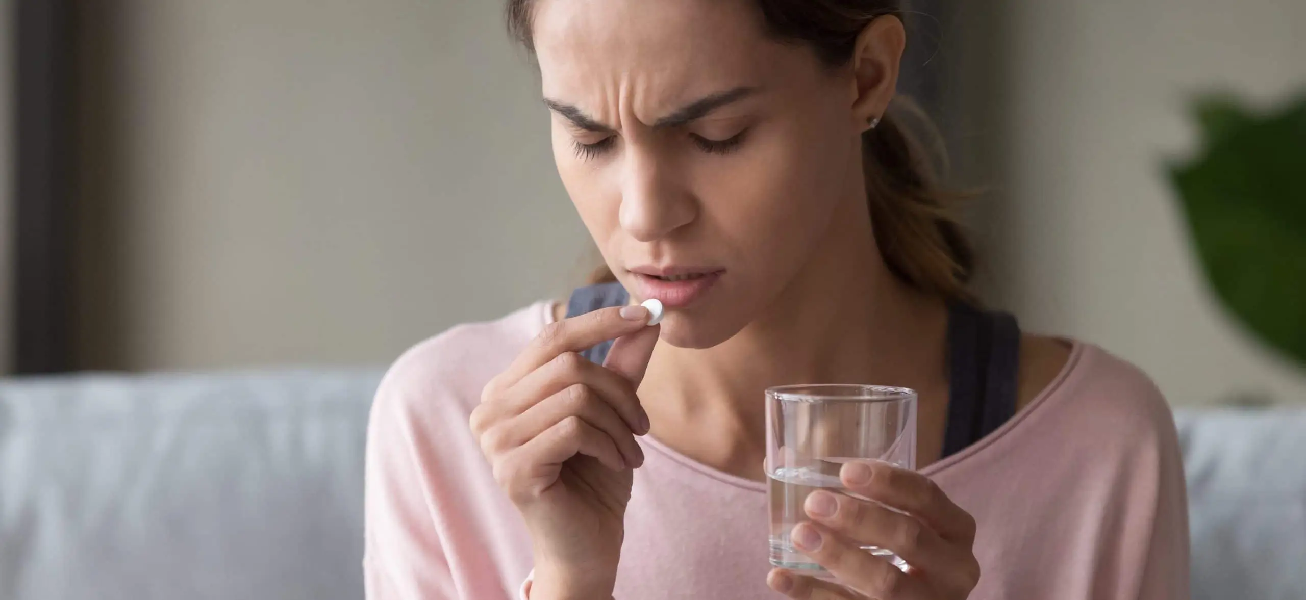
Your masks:
{"label": "clear drinking glass partly filled with water", "polygon": [[[771,563],[795,573],[829,573],[794,548],[789,533],[807,518],[807,494],[825,489],[861,500],[838,479],[850,460],[880,460],[916,468],[916,400],[905,387],[799,385],[767,390],[767,479],[771,503]],[[865,547],[899,569],[892,552]]]}

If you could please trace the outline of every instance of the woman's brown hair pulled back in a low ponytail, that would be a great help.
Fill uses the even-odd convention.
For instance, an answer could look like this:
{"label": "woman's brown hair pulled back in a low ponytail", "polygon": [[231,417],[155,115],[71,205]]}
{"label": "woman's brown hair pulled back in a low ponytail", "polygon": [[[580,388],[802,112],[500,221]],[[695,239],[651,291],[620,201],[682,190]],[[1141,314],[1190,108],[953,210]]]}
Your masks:
{"label": "woman's brown hair pulled back in a low ponytail", "polygon": [[[846,65],[857,37],[876,17],[901,18],[897,0],[755,0],[768,33],[782,42],[802,43],[828,68]],[[508,0],[508,31],[528,51],[532,0]],[[899,97],[879,127],[862,134],[866,197],[875,243],[889,270],[918,290],[953,300],[969,300],[966,283],[974,253],[949,210],[960,194],[943,189],[919,138],[908,121],[932,130],[930,120],[909,99]],[[939,153],[942,157],[942,153]],[[593,283],[615,280],[606,267]]]}

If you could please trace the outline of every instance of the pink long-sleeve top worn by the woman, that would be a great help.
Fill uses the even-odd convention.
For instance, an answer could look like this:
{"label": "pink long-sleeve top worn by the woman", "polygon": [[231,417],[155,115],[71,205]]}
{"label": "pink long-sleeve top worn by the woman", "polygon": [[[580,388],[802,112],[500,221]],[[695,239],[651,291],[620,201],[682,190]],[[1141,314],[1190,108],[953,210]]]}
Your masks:
{"label": "pink long-sleeve top worn by the woman", "polygon": [[[530,539],[468,427],[481,389],[552,321],[538,303],[407,351],[367,440],[370,600],[516,600]],[[765,583],[764,483],[637,438],[616,600],[780,599]],[[978,522],[980,600],[1188,597],[1183,471],[1170,410],[1139,369],[1075,343],[1007,424],[921,470]]]}

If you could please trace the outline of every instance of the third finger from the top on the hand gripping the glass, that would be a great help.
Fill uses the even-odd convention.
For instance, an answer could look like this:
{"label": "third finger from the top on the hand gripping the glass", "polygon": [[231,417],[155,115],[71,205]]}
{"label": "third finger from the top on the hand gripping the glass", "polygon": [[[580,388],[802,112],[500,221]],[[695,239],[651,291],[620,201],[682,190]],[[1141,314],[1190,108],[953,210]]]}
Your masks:
{"label": "third finger from the top on the hand gripping the glass", "polygon": [[819,523],[799,523],[790,537],[840,583],[879,600],[926,600],[929,588],[892,562],[849,544]]}

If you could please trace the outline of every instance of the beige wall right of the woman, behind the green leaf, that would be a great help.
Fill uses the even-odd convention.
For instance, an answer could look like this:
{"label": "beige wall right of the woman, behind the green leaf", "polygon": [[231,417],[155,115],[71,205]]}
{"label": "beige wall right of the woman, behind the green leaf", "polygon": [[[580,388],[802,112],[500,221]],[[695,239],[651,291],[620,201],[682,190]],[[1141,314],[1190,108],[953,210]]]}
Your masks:
{"label": "beige wall right of the woman, behind the green leaf", "polygon": [[995,296],[1025,325],[1136,361],[1174,403],[1306,402],[1302,372],[1207,293],[1162,177],[1194,147],[1194,91],[1306,90],[1306,3],[1003,0],[994,13]]}

